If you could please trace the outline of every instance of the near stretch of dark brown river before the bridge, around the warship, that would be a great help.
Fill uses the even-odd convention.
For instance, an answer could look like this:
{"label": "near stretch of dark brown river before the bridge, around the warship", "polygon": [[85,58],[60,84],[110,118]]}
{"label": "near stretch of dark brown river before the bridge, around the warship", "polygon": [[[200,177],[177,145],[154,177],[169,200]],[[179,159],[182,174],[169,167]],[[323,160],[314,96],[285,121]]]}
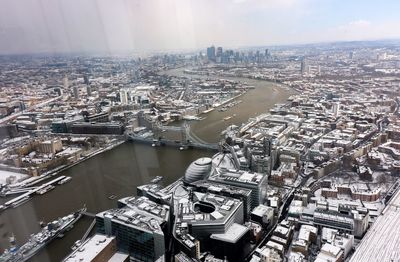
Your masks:
{"label": "near stretch of dark brown river before the bridge, around the warship", "polygon": [[[70,169],[62,175],[72,180],[17,208],[5,210],[0,215],[0,247],[9,247],[8,236],[15,235],[23,244],[30,234],[40,230],[38,221],[50,222],[82,208],[96,213],[117,207],[117,199],[135,195],[138,185],[146,184],[158,175],[164,176],[168,185],[181,177],[187,166],[211,151],[186,150],[176,147],[154,148],[144,144],[126,142],[116,148],[98,154]],[[177,164],[179,163],[179,164]],[[108,197],[115,195],[115,200]],[[62,239],[51,242],[32,261],[60,261],[70,251],[73,243],[85,233],[91,219],[83,218]]]}

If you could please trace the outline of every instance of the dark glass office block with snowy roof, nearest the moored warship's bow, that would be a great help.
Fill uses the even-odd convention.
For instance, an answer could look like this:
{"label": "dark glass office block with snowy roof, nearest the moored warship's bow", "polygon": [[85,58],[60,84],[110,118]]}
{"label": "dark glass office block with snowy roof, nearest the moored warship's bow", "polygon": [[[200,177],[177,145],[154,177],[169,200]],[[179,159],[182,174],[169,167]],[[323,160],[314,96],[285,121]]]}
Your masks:
{"label": "dark glass office block with snowy roof, nearest the moored warship's bow", "polygon": [[[115,236],[119,251],[128,253],[131,261],[164,261],[169,207],[146,197],[121,200],[126,207],[96,215],[97,232]],[[163,231],[164,230],[164,231]]]}

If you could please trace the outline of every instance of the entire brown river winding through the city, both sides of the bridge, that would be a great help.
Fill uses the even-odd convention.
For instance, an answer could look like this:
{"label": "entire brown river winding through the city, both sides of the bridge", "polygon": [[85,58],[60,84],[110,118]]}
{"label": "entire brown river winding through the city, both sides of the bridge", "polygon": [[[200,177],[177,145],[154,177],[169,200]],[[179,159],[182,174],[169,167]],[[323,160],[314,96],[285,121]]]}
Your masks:
{"label": "entire brown river winding through the city, both sides of the bridge", "polygon": [[[168,71],[171,75],[182,75],[181,70]],[[192,76],[194,77],[194,76]],[[224,77],[228,79],[227,77]],[[228,125],[239,125],[249,117],[267,112],[275,103],[284,102],[293,91],[274,83],[229,78],[255,86],[239,99],[243,102],[225,112],[217,110],[206,114],[206,119],[191,123],[192,131],[208,142],[217,142],[219,134]],[[226,116],[235,117],[223,121]],[[39,221],[50,222],[86,205],[91,213],[117,206],[117,199],[135,195],[138,185],[146,184],[156,176],[163,176],[165,185],[181,177],[187,166],[202,156],[213,152],[198,149],[179,151],[175,147],[151,147],[126,142],[112,150],[98,154],[60,175],[72,180],[31,201],[5,210],[0,214],[0,252],[9,247],[8,237],[14,234],[17,243],[23,244],[32,233],[40,230]],[[115,195],[115,200],[108,197]],[[79,240],[91,219],[84,217],[62,239],[56,239],[31,259],[35,262],[60,261]]]}

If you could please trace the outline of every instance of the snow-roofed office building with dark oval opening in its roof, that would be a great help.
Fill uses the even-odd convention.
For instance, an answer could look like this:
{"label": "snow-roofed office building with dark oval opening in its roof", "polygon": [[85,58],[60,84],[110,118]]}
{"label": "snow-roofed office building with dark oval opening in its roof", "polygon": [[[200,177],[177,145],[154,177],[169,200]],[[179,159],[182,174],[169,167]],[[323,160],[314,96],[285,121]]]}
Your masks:
{"label": "snow-roofed office building with dark oval opening in its roof", "polygon": [[[242,202],[188,190],[187,197],[175,198],[174,201],[176,220],[173,234],[178,250],[196,259],[200,258],[201,250],[209,250],[219,257],[229,256],[229,261],[241,261],[246,253],[243,246],[250,239],[248,227],[243,226]],[[232,249],[235,252],[229,254],[227,250]]]}

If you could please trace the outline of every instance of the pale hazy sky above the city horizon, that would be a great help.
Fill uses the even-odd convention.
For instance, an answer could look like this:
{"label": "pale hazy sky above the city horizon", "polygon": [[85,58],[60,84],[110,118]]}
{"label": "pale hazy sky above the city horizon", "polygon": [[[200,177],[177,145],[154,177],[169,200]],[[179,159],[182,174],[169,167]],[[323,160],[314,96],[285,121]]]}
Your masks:
{"label": "pale hazy sky above the city horizon", "polygon": [[0,0],[0,53],[400,38],[400,1]]}

